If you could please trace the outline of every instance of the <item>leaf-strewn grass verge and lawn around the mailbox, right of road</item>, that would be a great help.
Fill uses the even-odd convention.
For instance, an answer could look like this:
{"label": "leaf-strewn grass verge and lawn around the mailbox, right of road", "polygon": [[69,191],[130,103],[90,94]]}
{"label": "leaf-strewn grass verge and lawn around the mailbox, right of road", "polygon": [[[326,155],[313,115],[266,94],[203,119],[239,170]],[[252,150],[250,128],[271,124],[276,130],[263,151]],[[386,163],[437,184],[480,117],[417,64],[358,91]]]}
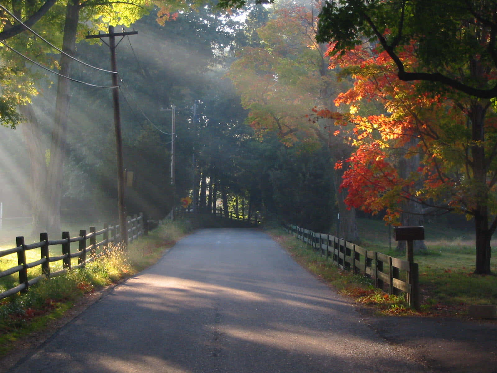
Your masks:
{"label": "leaf-strewn grass verge and lawn around the mailbox, right of road", "polygon": [[[358,219],[360,246],[405,259],[404,253],[395,250],[396,242],[389,242],[388,227],[382,221]],[[421,308],[410,309],[402,296],[394,296],[375,289],[367,279],[360,280],[326,263],[306,244],[278,228],[268,231],[301,265],[331,284],[339,292],[352,296],[357,302],[376,307],[383,314],[423,316],[467,316],[470,304],[497,304],[497,242],[492,245],[493,275],[474,275],[475,248],[471,228],[451,229],[441,224],[425,227],[423,255],[414,255],[419,265]]]}

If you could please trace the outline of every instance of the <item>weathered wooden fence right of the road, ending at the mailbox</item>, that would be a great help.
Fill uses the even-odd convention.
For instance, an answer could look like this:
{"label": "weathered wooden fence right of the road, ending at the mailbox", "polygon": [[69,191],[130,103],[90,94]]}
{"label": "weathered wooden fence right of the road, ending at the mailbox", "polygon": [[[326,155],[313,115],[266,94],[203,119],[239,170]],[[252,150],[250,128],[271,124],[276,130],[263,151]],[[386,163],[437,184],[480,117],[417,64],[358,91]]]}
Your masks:
{"label": "weathered wooden fence right of the road, ending at the mailbox", "polygon": [[409,304],[419,308],[417,263],[366,250],[330,234],[315,233],[290,224],[284,227],[339,268],[374,279],[377,288],[390,294],[405,293]]}

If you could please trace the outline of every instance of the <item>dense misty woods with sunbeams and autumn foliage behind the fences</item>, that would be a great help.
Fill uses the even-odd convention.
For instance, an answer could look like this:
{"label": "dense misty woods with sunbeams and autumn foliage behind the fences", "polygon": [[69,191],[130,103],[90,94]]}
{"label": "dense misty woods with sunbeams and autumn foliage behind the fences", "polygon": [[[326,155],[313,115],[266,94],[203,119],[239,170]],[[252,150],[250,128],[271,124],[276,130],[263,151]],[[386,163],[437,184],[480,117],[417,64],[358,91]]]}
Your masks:
{"label": "dense misty woods with sunbeams and autumn foliage behind the fences", "polygon": [[257,2],[1,4],[1,199],[23,200],[37,232],[69,205],[116,216],[111,73],[80,62],[110,69],[84,40],[110,24],[138,31],[117,47],[130,214],[192,196],[358,242],[356,209],[403,225],[458,213],[490,273],[493,1]]}

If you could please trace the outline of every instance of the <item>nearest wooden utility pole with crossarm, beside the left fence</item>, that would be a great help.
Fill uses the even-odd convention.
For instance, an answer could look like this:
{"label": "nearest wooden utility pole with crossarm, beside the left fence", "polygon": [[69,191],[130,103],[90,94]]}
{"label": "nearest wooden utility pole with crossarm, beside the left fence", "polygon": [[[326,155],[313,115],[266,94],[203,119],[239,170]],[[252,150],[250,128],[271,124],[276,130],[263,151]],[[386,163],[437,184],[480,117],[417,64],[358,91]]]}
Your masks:
{"label": "nearest wooden utility pole with crossarm, beside the left fence", "polygon": [[[117,203],[119,207],[119,225],[121,227],[121,242],[128,245],[128,226],[126,224],[126,205],[124,203],[124,166],[123,166],[123,149],[121,136],[121,113],[119,111],[119,83],[117,79],[117,61],[116,47],[126,35],[136,35],[138,31],[114,32],[114,26],[109,26],[108,34],[86,35],[86,39],[94,38],[109,38],[109,44],[105,43],[110,48],[110,66],[112,73],[112,102],[114,105],[114,132],[116,141],[116,161],[117,161]],[[116,44],[116,36],[122,36],[121,40]]]}

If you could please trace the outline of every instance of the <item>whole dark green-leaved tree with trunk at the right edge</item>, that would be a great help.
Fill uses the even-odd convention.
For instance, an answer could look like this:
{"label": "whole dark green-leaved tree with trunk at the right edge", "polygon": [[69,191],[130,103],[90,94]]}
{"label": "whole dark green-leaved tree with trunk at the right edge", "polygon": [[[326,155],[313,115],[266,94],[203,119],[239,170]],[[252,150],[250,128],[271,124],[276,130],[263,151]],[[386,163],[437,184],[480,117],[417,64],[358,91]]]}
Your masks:
{"label": "whole dark green-leaved tree with trunk at the right edge", "polygon": [[[433,154],[425,147],[425,156],[441,155],[448,165],[455,159],[461,160],[454,156],[455,149],[464,149],[462,159],[466,162],[462,165],[466,169],[456,173],[452,186],[458,189],[471,180],[468,188],[478,190],[471,194],[474,198],[468,209],[475,221],[475,272],[480,274],[490,273],[490,240],[497,228],[493,119],[493,99],[497,96],[495,13],[494,1],[328,1],[320,13],[317,34],[318,41],[331,43],[331,56],[344,56],[363,45],[383,52],[401,81],[415,82],[413,103],[426,95],[442,101],[448,99],[466,117],[457,131],[454,127],[452,132],[431,133],[435,142],[441,142],[438,136],[443,133],[450,136],[445,138],[443,152]],[[360,67],[366,66],[369,65],[363,63]],[[450,118],[450,113],[437,120],[461,123],[460,119]],[[396,131],[403,132],[402,128]],[[405,135],[419,139],[422,133],[418,128]],[[450,178],[440,170],[437,172],[434,179],[441,185],[432,187],[443,187],[457,194],[451,188]],[[430,179],[433,175],[424,177]],[[402,194],[397,190],[398,195]]]}

